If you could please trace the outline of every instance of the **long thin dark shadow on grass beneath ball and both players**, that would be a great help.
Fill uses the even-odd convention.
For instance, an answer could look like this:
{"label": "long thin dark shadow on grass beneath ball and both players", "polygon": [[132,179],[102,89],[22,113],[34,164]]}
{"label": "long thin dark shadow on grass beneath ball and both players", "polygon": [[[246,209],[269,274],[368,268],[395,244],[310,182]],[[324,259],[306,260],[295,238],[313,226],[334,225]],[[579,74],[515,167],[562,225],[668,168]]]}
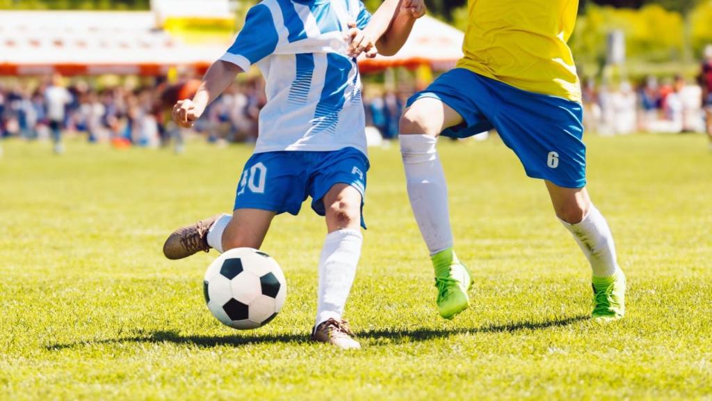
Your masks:
{"label": "long thin dark shadow on grass beneath ball and both players", "polygon": [[[519,322],[508,323],[506,325],[490,325],[481,328],[390,328],[382,330],[369,330],[358,333],[358,337],[362,339],[381,340],[389,339],[397,342],[406,341],[426,341],[436,338],[449,337],[458,334],[477,334],[477,333],[513,333],[519,330],[543,330],[546,328],[562,327],[577,323],[582,320],[589,319],[589,316],[580,315],[570,318],[545,320],[543,322]],[[282,334],[282,335],[225,335],[225,336],[209,336],[209,335],[181,335],[177,331],[156,331],[147,335],[135,337],[110,338],[106,340],[85,340],[78,342],[68,342],[60,344],[47,345],[47,350],[64,350],[78,346],[88,345],[104,345],[104,344],[122,344],[127,342],[172,342],[174,344],[190,344],[199,347],[217,347],[221,345],[246,345],[258,344],[267,342],[305,342],[308,340],[308,335],[300,334]]]}

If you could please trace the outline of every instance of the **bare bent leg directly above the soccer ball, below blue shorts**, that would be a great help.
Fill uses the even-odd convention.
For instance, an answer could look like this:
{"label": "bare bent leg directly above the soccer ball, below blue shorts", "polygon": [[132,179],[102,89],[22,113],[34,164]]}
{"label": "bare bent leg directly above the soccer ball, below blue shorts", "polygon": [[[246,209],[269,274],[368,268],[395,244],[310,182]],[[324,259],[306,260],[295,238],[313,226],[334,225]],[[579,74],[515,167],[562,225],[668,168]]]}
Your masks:
{"label": "bare bent leg directly above the soccer ball, below blue shorts", "polygon": [[223,233],[223,250],[259,249],[276,212],[262,209],[236,209]]}

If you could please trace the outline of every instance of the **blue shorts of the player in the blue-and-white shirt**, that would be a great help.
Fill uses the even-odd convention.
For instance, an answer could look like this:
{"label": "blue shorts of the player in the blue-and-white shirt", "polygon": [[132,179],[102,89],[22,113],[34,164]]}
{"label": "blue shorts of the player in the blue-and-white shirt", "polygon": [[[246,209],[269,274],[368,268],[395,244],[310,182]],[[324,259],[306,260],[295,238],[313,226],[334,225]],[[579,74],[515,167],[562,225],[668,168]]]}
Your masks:
{"label": "blue shorts of the player in the blue-and-white shirt", "polygon": [[[312,209],[325,215],[323,198],[338,183],[366,193],[368,158],[355,148],[339,151],[280,151],[255,153],[240,176],[234,209],[262,209],[298,215],[302,203],[312,198]],[[366,228],[361,213],[361,225]]]}

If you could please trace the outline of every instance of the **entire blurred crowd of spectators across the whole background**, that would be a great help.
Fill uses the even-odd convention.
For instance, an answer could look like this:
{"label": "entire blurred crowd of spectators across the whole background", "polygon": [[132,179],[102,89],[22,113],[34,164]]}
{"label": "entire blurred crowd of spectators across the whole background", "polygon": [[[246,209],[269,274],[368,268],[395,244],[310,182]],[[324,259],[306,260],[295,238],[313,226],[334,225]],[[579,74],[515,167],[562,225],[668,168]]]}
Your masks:
{"label": "entire blurred crowd of spectators across the whole background", "polygon": [[[0,82],[0,138],[51,138],[57,153],[63,151],[61,137],[66,134],[120,147],[173,142],[181,151],[185,132],[170,121],[170,112],[177,100],[192,97],[199,84],[197,78],[170,83],[155,78],[150,83],[98,88],[89,81],[61,76]],[[366,89],[368,134],[379,136],[379,141],[396,138],[399,117],[412,90],[384,91],[368,84]],[[635,84],[605,85],[587,79],[582,95],[588,132],[707,131],[712,141],[712,48],[696,81],[650,76]],[[209,106],[194,131],[216,143],[255,141],[258,113],[265,102],[261,78],[236,82]]]}

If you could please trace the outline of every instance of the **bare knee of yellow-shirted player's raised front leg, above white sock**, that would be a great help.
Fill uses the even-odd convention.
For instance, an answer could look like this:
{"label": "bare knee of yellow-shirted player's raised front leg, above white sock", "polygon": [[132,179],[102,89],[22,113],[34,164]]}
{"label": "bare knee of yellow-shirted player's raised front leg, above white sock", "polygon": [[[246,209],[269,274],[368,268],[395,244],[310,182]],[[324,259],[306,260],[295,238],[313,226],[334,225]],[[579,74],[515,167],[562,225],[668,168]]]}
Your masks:
{"label": "bare knee of yellow-shirted player's raised front leg, above white sock", "polygon": [[444,101],[434,97],[421,97],[403,113],[400,134],[438,136],[446,128],[457,126],[463,121],[460,113]]}

